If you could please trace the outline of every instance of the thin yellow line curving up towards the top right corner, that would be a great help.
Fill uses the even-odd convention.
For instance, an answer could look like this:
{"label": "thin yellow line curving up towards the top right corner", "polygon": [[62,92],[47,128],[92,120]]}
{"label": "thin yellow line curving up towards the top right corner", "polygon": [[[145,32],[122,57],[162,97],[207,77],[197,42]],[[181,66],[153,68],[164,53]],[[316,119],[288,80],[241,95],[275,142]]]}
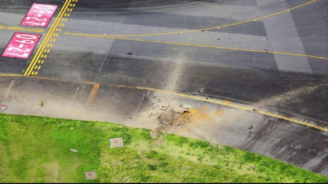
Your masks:
{"label": "thin yellow line curving up towards the top right corner", "polygon": [[316,2],[316,1],[319,1],[319,0],[312,0],[310,2],[307,2],[307,3],[304,3],[304,4],[298,5],[296,7],[293,7],[293,8],[290,8],[290,9],[285,9],[285,10],[279,11],[277,13],[266,15],[266,16],[263,16],[263,17],[259,17],[259,18],[255,18],[255,19],[251,19],[251,20],[246,20],[246,21],[241,21],[241,22],[236,22],[236,23],[233,23],[233,24],[227,24],[227,25],[222,25],[222,26],[215,26],[215,27],[211,27],[211,28],[194,29],[194,30],[179,31],[179,32],[153,33],[153,34],[116,34],[116,35],[115,34],[112,34],[112,35],[108,35],[108,36],[156,36],[156,35],[167,35],[167,34],[182,34],[182,33],[188,33],[188,32],[196,32],[196,31],[204,31],[204,30],[210,30],[210,29],[224,28],[224,27],[228,27],[228,26],[234,26],[234,25],[238,25],[238,24],[243,24],[243,23],[247,23],[247,22],[252,22],[252,21],[256,21],[256,20],[261,20],[261,19],[265,19],[265,18],[268,18],[268,17],[272,17],[272,16],[275,16],[275,15],[278,15],[278,14],[281,14],[281,13],[284,13],[284,12],[288,12],[288,11],[293,10],[293,9],[300,8],[302,6],[311,4],[311,3]]}

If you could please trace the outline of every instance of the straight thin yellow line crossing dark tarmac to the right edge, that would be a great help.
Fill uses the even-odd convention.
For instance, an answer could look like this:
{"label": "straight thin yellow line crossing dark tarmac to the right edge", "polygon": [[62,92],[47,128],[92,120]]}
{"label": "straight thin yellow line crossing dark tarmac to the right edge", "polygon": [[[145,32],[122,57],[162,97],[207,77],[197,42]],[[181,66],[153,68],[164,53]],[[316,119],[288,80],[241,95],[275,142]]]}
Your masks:
{"label": "straight thin yellow line crossing dark tarmac to the right edge", "polygon": [[163,42],[163,41],[155,41],[155,40],[142,40],[142,39],[133,39],[133,38],[109,37],[109,36],[104,36],[104,35],[98,36],[98,35],[93,35],[93,34],[80,34],[80,33],[64,33],[64,34],[72,34],[72,35],[79,35],[79,36],[91,36],[91,37],[101,37],[101,38],[111,38],[111,39],[121,39],[121,40],[131,40],[131,41],[140,41],[140,42],[161,43],[161,44],[173,44],[173,45],[181,45],[181,46],[195,46],[195,47],[206,47],[206,48],[217,48],[217,49],[228,49],[228,50],[239,50],[239,51],[250,51],[250,52],[262,52],[262,53],[271,53],[271,54],[285,54],[285,55],[312,57],[312,58],[328,60],[328,58],[325,58],[325,57],[312,56],[312,55],[306,55],[306,54],[288,53],[288,52],[254,50],[254,49],[223,47],[223,46],[206,46],[206,45],[185,44],[185,43],[177,43],[177,42]]}

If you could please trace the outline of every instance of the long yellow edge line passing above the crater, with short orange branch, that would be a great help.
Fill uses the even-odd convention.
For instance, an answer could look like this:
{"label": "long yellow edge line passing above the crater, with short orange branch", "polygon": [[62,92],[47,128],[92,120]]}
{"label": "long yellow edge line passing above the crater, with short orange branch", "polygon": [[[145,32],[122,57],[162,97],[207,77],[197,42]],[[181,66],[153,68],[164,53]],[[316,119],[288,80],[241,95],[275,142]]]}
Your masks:
{"label": "long yellow edge line passing above the crater, with short orange branch", "polygon": [[[21,75],[21,74],[0,74],[0,77],[28,77],[28,76]],[[93,84],[94,85],[93,88],[99,88],[100,84],[102,84],[102,85],[105,84],[105,83],[95,83],[95,82],[87,82],[87,81],[76,81],[76,80],[59,79],[59,78],[51,78],[51,77],[40,77],[40,76],[30,76],[29,78],[45,79],[45,80],[53,80],[53,81],[62,81],[62,82],[74,82],[74,83]],[[225,106],[230,106],[230,107],[234,107],[234,108],[238,108],[238,109],[252,111],[252,112],[255,112],[255,113],[258,113],[258,114],[267,115],[267,116],[271,116],[271,117],[275,117],[275,118],[279,118],[279,119],[283,119],[283,120],[288,120],[288,121],[291,121],[291,122],[294,122],[294,123],[302,124],[302,125],[305,125],[305,126],[308,126],[308,127],[312,127],[312,128],[316,128],[316,129],[319,129],[319,130],[328,132],[328,129],[327,128],[319,127],[317,125],[313,125],[313,124],[306,123],[306,122],[303,122],[303,121],[299,121],[299,120],[287,118],[287,117],[276,115],[276,114],[273,114],[273,113],[268,113],[268,112],[265,112],[265,111],[256,111],[256,110],[254,111],[253,108],[243,107],[243,106],[240,106],[240,105],[235,105],[235,104],[232,104],[232,103],[229,103],[229,102],[226,102],[226,101],[215,101],[215,100],[206,99],[206,98],[202,98],[202,97],[196,97],[196,96],[191,96],[191,95],[187,95],[187,94],[183,94],[183,93],[177,93],[177,92],[172,92],[172,91],[165,91],[165,90],[160,90],[160,89],[155,89],[155,88],[149,88],[149,87],[129,86],[129,85],[111,84],[111,83],[108,83],[108,85],[116,86],[116,87],[126,87],[126,88],[135,88],[135,89],[148,90],[148,91],[156,91],[156,92],[161,92],[161,93],[167,93],[167,94],[182,96],[182,97],[186,97],[186,98],[193,98],[193,99],[202,100],[202,101],[206,101],[206,102],[212,102],[212,103],[221,104],[221,105],[225,105]],[[94,95],[95,94],[96,94],[96,92],[94,93]],[[90,96],[91,96],[91,94],[90,94]],[[90,96],[89,96],[89,98],[91,98]],[[88,101],[89,101],[89,99],[88,99]]]}

